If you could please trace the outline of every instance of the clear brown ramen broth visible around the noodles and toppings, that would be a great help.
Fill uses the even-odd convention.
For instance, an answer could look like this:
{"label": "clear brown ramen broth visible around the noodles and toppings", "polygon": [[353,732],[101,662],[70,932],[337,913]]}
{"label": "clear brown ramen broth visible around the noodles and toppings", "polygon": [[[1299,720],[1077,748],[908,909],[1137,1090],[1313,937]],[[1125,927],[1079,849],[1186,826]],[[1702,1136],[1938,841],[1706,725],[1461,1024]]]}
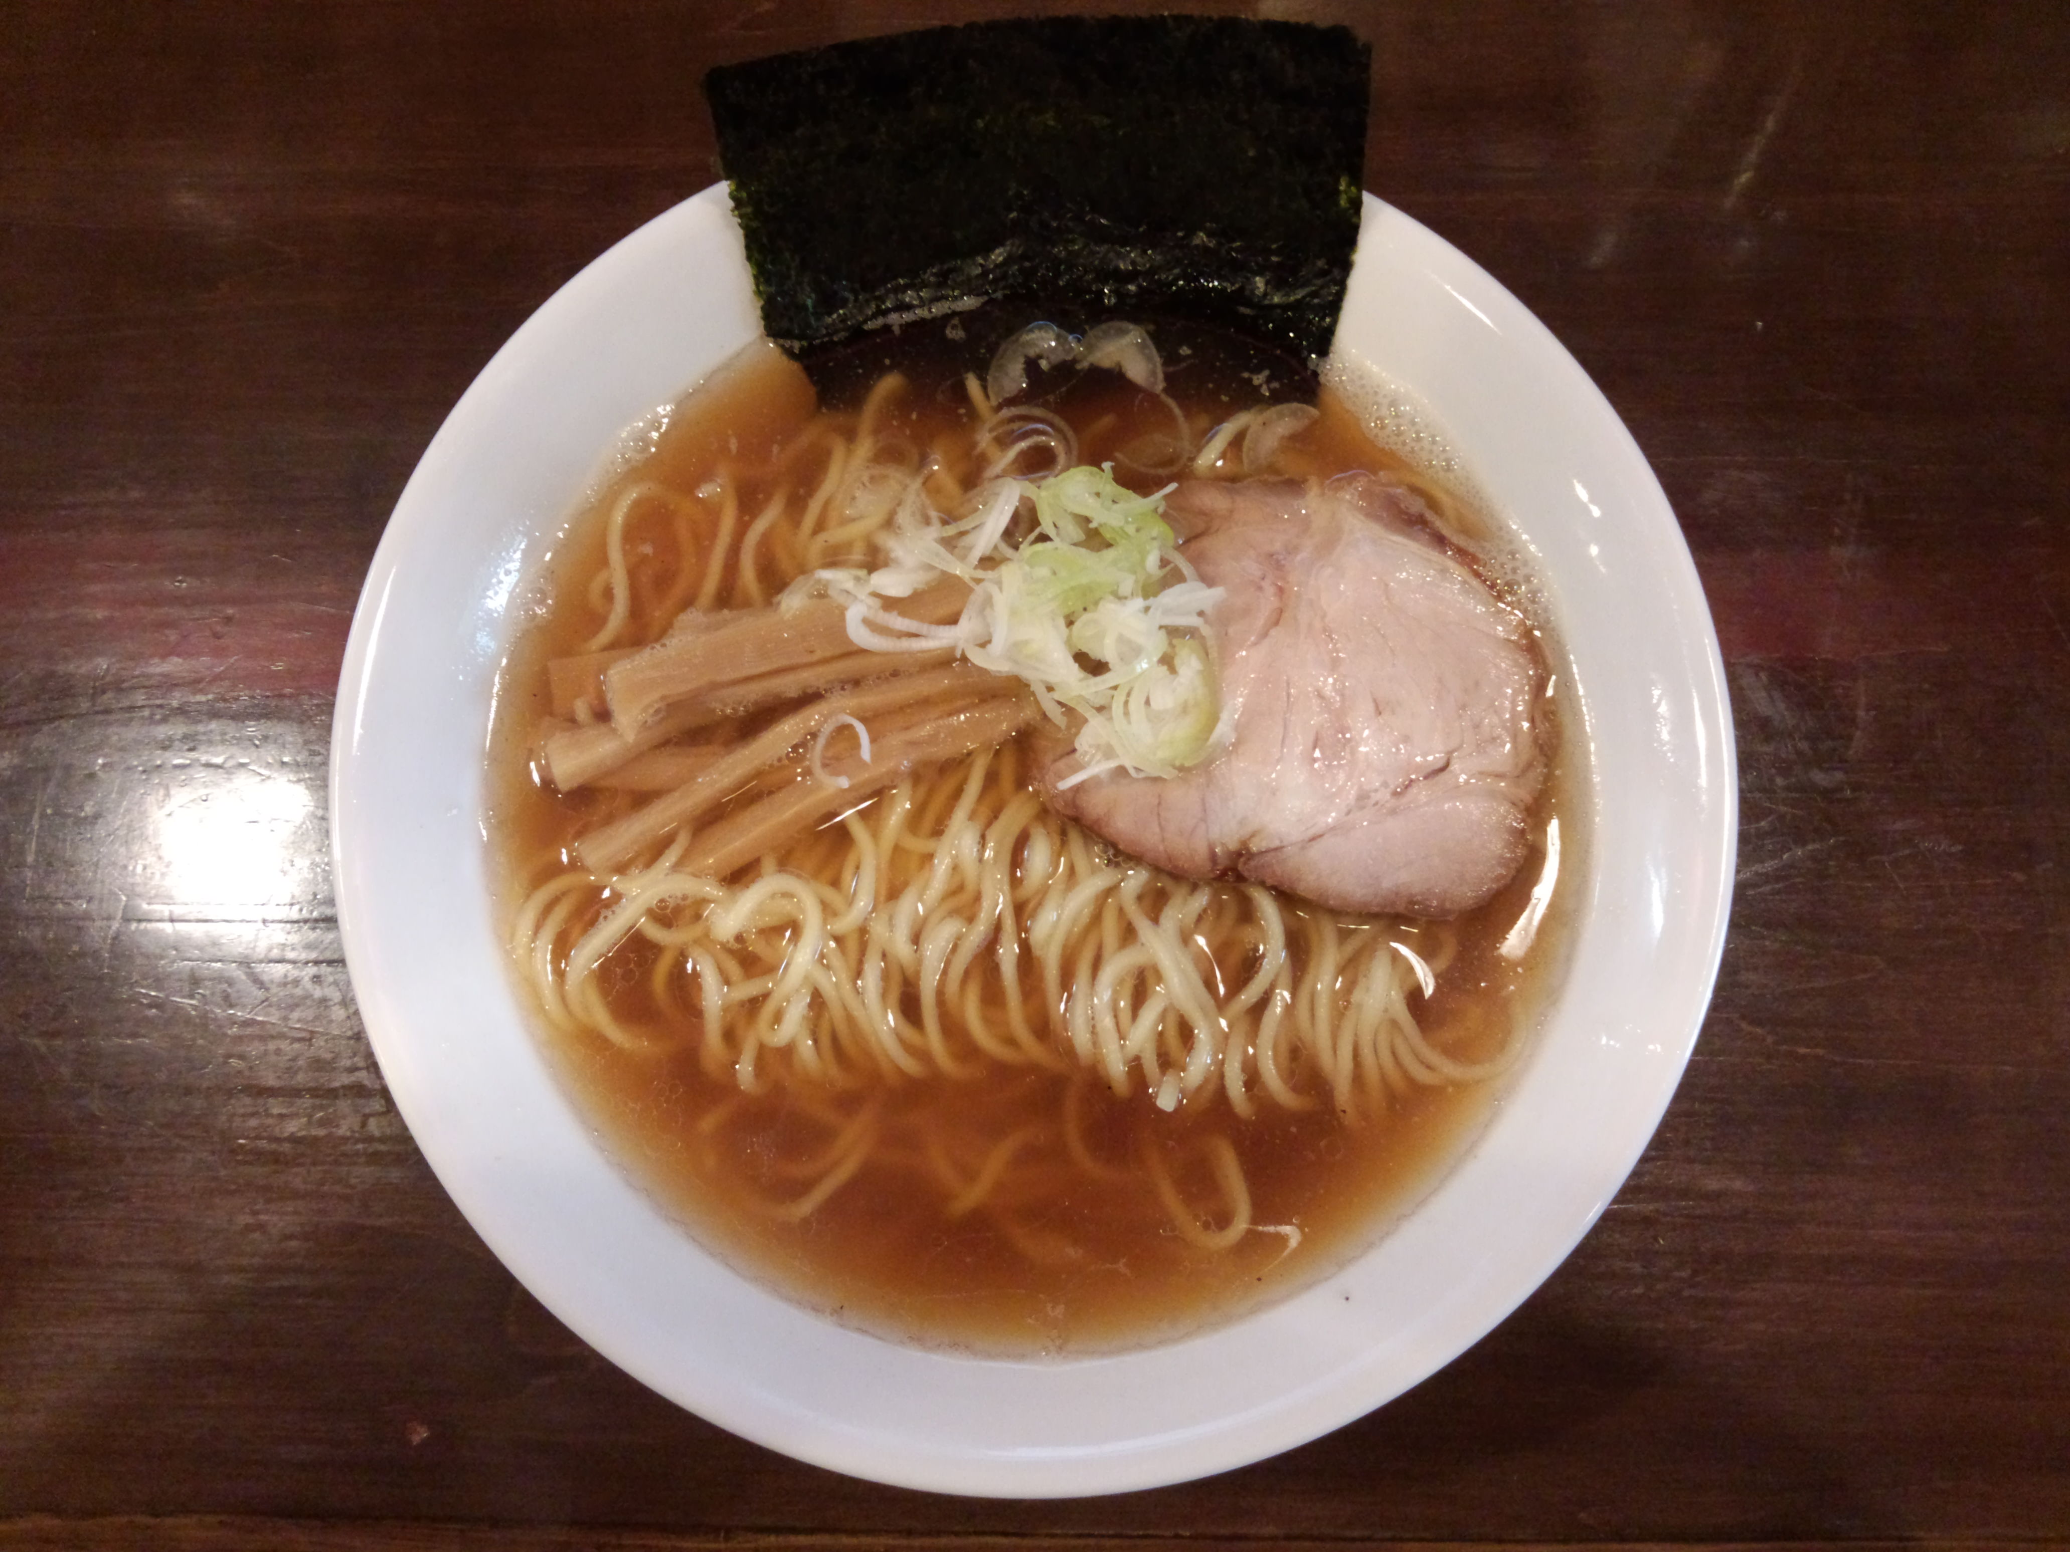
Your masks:
{"label": "clear brown ramen broth visible around the noodles and toppings", "polygon": [[[1259,383],[1267,379],[1252,372],[1283,368],[1279,362],[1259,366],[1223,339],[1194,339],[1196,352],[1188,356],[1199,356],[1192,372],[1199,391],[1188,391],[1186,408],[1199,430],[1232,408],[1259,401]],[[921,346],[903,352],[900,362],[919,387],[898,406],[896,424],[915,445],[927,447],[969,418],[960,364],[975,360],[983,370],[989,348],[965,348],[958,366],[944,370],[940,362],[954,354],[954,341],[944,344],[929,331],[925,341],[907,344]],[[1167,337],[1161,344],[1170,362]],[[911,366],[915,356],[917,368]],[[847,364],[847,393],[871,381],[871,366]],[[830,377],[838,385],[840,372]],[[1296,377],[1281,370],[1281,381]],[[1172,379],[1174,393],[1186,391],[1184,370],[1174,370]],[[1155,401],[1147,410],[1145,395],[1105,372],[1045,387],[1049,401],[1087,428],[1081,430],[1081,461],[1118,457],[1130,439],[1155,428],[1159,414],[1170,422]],[[1312,381],[1294,381],[1298,393],[1312,389]],[[1406,459],[1377,447],[1327,389],[1321,408],[1321,422],[1290,453],[1285,472],[1408,470]],[[491,739],[491,848],[505,919],[542,869],[565,861],[575,834],[635,801],[590,790],[563,797],[542,780],[532,757],[534,728],[549,712],[542,664],[578,652],[594,627],[596,615],[582,594],[600,565],[602,513],[633,480],[693,493],[718,459],[731,459],[735,470],[768,464],[811,416],[814,393],[797,368],[774,354],[756,358],[735,368],[718,391],[706,387],[685,399],[669,424],[648,437],[652,451],[619,468],[571,524],[499,687]],[[805,466],[809,459],[799,464]],[[1141,488],[1161,482],[1132,478],[1126,466],[1118,472]],[[749,490],[741,524],[758,509],[760,493]],[[689,528],[660,519],[631,530],[627,550],[662,577],[648,588],[648,606],[664,602],[667,579],[685,555],[696,559],[704,542]],[[766,536],[766,553],[772,559],[768,592],[774,592],[776,571],[791,575],[805,557],[778,532]],[[733,590],[720,602],[756,600]],[[1571,879],[1581,850],[1569,819],[1579,805],[1563,801],[1561,790],[1573,780],[1563,770],[1569,764],[1555,764],[1555,782],[1534,819],[1540,834],[1555,809],[1567,822],[1561,902],[1577,894]],[[799,855],[805,850],[809,842]],[[1524,968],[1495,952],[1524,911],[1538,865],[1538,857],[1530,859],[1492,902],[1459,925],[1457,956],[1439,991],[1418,1008],[1422,1028],[1463,1059],[1499,1047],[1509,1020],[1530,1020],[1557,977],[1559,908]],[[1360,931],[1399,937],[1418,927],[1374,919]],[[615,964],[617,995],[629,1004],[648,995],[642,952],[629,950]],[[1240,1122],[1219,1099],[1165,1113],[1141,1084],[1118,1099],[1091,1074],[1006,1068],[979,1082],[931,1078],[867,1097],[799,1084],[747,1097],[731,1074],[714,1078],[700,1068],[696,1041],[671,1055],[627,1055],[596,1037],[546,1033],[542,1039],[627,1173],[741,1271],[867,1331],[1002,1353],[1145,1345],[1234,1318],[1312,1283],[1420,1200],[1486,1122],[1503,1086],[1495,1080],[1418,1088],[1360,1117],[1339,1117],[1329,1103],[1283,1111],[1265,1101],[1254,1120]],[[1327,1091],[1323,1097],[1327,1101]],[[795,1200],[811,1180],[799,1157],[824,1153],[865,1103],[882,1107],[886,1138],[871,1163],[801,1221],[772,1217],[772,1202]],[[1066,1122],[1078,1126],[1095,1163],[1126,1167],[1134,1184],[1060,1163],[1058,1138]],[[1039,1146],[1025,1151],[1039,1159],[1012,1177],[1000,1211],[946,1217],[942,1161],[971,1177],[992,1146],[1021,1128],[1041,1134]],[[1155,1194],[1143,1188],[1134,1163],[1143,1151],[1155,1151],[1186,1200],[1203,1206],[1203,1219],[1213,1219],[1217,1196],[1205,1148],[1211,1134],[1234,1142],[1259,1225],[1219,1252],[1201,1250],[1174,1229]]]}

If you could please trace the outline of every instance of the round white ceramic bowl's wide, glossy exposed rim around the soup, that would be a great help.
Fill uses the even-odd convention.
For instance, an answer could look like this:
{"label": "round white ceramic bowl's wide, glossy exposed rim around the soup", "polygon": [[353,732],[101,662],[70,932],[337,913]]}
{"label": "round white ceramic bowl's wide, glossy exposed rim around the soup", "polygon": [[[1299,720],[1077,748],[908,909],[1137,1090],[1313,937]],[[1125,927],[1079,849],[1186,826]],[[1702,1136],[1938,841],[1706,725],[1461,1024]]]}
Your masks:
{"label": "round white ceramic bowl's wide, glossy exposed rim around the soup", "polygon": [[1379,1246],[1207,1335],[1049,1362],[917,1351],[737,1277],[598,1148],[491,927],[482,743],[511,600],[602,451],[758,329],[722,188],[650,221],[497,354],[410,478],[346,648],[331,844],[346,960],[439,1180],[538,1300],[691,1411],[818,1465],[1120,1492],[1300,1444],[1451,1362],[1552,1273],[1652,1136],[1724,944],[1737,840],[1716,637],[1617,414],[1472,261],[1366,197],[1337,348],[1408,387],[1552,592],[1588,743],[1571,971],[1478,1144]]}

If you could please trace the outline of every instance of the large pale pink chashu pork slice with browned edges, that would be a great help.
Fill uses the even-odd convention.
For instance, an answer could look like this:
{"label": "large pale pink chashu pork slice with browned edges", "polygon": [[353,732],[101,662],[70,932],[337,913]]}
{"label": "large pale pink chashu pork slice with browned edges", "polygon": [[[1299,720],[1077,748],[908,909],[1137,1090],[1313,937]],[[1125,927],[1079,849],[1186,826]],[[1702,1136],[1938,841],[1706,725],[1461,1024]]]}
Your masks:
{"label": "large pale pink chashu pork slice with browned edges", "polygon": [[1207,633],[1228,743],[1172,778],[1045,797],[1186,877],[1248,877],[1356,913],[1451,917],[1524,861],[1544,780],[1544,673],[1515,610],[1377,476],[1190,480],[1165,517],[1223,588]]}

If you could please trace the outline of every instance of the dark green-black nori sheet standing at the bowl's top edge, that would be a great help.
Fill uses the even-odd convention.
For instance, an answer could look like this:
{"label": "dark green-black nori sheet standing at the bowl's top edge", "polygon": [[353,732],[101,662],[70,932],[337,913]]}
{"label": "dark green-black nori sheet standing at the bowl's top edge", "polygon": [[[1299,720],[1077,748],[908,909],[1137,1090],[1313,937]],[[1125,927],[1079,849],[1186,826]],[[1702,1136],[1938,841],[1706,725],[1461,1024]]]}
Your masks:
{"label": "dark green-black nori sheet standing at the bowl's top edge", "polygon": [[1329,350],[1370,48],[1236,17],[971,23],[704,81],[762,327],[793,354],[994,296]]}

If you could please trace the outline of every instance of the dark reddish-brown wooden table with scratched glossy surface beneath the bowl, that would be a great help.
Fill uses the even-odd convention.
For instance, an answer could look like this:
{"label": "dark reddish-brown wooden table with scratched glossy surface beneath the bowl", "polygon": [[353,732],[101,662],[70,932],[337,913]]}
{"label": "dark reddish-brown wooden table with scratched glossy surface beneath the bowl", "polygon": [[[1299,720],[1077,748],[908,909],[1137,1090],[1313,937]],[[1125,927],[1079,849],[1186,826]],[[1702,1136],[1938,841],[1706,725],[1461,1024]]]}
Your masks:
{"label": "dark reddish-brown wooden table with scratched glossy surface beneath the bowl", "polygon": [[497,344],[714,178],[710,64],[994,8],[17,0],[0,1548],[2070,1540],[2070,12],[1273,10],[1372,39],[1368,186],[1596,377],[1724,639],[1733,939],[1600,1227],[1122,1498],[849,1482],[592,1355],[354,1012],[348,619]]}

